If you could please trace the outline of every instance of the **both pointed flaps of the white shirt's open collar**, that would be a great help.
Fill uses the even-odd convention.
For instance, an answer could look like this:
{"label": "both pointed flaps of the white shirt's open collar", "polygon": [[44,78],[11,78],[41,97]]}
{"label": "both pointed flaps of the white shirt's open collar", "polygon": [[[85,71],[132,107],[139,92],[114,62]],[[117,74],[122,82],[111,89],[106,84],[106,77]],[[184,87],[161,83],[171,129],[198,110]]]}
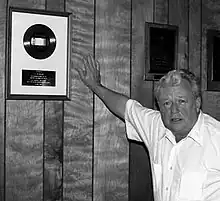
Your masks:
{"label": "both pointed flaps of the white shirt's open collar", "polygon": [[[164,127],[164,129],[163,129],[164,132],[159,137],[159,141],[162,140],[164,137],[166,137],[174,144],[175,143],[174,135],[172,134],[172,132],[169,129],[165,128],[164,124],[162,124],[162,125]],[[195,142],[197,142],[199,145],[202,146],[203,145],[203,135],[202,135],[203,125],[204,125],[204,114],[200,110],[198,119],[186,138],[191,138]]]}

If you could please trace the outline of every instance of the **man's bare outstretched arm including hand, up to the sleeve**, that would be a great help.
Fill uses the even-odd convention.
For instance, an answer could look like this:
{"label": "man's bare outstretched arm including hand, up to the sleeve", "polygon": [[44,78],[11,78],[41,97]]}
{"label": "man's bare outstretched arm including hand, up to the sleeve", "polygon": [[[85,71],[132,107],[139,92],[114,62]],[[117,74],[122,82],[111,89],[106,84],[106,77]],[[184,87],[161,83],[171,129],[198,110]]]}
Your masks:
{"label": "man's bare outstretched arm including hand, up to the sleeve", "polygon": [[76,69],[83,83],[91,89],[109,108],[109,110],[124,119],[127,96],[112,91],[101,84],[100,66],[91,55],[84,58],[84,66]]}

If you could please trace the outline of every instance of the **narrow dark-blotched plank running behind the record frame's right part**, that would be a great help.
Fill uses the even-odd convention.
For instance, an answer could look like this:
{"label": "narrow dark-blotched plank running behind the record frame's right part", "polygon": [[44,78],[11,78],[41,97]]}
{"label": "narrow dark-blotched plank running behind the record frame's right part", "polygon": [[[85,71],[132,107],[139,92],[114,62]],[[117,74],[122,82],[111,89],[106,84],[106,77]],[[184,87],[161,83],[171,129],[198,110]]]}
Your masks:
{"label": "narrow dark-blotched plank running behind the record frame's right part", "polygon": [[[46,0],[45,5],[46,10],[65,11],[64,0]],[[64,101],[44,103],[44,200],[61,201],[63,200]]]}

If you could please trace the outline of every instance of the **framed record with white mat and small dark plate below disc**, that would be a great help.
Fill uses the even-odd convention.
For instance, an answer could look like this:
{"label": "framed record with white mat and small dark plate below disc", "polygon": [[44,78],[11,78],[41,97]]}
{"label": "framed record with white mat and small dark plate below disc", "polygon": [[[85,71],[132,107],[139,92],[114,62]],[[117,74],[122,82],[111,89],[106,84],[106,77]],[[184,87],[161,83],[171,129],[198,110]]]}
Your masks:
{"label": "framed record with white mat and small dark plate below disc", "polygon": [[9,7],[7,99],[69,99],[70,16]]}

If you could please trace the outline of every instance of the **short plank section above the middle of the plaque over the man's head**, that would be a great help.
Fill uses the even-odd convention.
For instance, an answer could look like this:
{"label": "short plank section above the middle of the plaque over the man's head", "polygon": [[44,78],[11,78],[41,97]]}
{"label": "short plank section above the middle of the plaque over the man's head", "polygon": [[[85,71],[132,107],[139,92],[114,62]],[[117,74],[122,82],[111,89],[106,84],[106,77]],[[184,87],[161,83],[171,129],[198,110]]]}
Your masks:
{"label": "short plank section above the middle of the plaque over the man's head", "polygon": [[169,0],[154,0],[155,3],[154,22],[161,24],[168,23],[169,21],[168,2]]}

